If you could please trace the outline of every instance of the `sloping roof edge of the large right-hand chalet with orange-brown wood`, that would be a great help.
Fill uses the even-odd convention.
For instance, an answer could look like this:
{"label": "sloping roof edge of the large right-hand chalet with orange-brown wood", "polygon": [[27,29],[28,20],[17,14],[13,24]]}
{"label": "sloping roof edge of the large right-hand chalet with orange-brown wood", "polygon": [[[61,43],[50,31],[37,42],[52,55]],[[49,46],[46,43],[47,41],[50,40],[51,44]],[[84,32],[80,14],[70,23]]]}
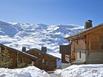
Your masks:
{"label": "sloping roof edge of the large right-hand chalet with orange-brown wood", "polygon": [[87,35],[88,33],[91,33],[92,31],[99,29],[101,27],[103,27],[103,24],[97,25],[95,27],[90,27],[88,29],[84,29],[83,31],[81,31],[75,35],[69,36],[66,39],[71,40],[71,39],[75,39],[75,38],[78,38],[78,37],[83,36],[83,35]]}

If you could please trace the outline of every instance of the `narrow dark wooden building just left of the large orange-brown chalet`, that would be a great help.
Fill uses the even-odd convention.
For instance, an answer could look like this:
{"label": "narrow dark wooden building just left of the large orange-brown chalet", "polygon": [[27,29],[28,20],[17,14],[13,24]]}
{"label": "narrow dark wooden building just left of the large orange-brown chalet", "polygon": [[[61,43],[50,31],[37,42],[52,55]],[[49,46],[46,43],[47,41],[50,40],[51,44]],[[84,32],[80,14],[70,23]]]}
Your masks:
{"label": "narrow dark wooden building just left of the large orange-brown chalet", "polygon": [[68,67],[70,64],[71,45],[60,45],[59,49],[62,59],[62,68]]}

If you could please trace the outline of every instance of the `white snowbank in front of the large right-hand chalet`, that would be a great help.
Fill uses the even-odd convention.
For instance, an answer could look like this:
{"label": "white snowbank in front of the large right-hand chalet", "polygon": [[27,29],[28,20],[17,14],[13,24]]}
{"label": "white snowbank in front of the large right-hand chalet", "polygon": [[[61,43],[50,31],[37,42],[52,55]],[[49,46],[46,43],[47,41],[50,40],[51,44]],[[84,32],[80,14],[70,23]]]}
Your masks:
{"label": "white snowbank in front of the large right-hand chalet", "polygon": [[103,77],[103,64],[72,65],[61,71],[61,77]]}

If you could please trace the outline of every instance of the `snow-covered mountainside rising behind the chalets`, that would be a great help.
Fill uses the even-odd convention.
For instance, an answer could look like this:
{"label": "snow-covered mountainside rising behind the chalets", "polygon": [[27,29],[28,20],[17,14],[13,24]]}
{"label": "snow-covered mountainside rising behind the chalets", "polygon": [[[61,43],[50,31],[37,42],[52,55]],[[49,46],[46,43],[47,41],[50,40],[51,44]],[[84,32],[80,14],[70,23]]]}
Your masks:
{"label": "snow-covered mountainside rising behind the chalets", "polygon": [[68,44],[64,39],[83,27],[77,25],[45,25],[30,23],[7,23],[0,21],[0,43],[21,50],[22,46],[41,48],[48,52],[59,51],[59,45]]}

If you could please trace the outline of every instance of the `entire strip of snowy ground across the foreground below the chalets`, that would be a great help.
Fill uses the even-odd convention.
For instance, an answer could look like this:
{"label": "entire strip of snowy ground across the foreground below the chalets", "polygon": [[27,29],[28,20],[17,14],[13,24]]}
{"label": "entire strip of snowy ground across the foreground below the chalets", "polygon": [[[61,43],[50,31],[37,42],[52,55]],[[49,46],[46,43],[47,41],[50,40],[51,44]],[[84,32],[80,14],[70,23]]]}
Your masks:
{"label": "entire strip of snowy ground across the foreground below the chalets", "polygon": [[34,66],[21,69],[0,68],[0,77],[103,77],[103,64],[71,65],[49,74]]}

